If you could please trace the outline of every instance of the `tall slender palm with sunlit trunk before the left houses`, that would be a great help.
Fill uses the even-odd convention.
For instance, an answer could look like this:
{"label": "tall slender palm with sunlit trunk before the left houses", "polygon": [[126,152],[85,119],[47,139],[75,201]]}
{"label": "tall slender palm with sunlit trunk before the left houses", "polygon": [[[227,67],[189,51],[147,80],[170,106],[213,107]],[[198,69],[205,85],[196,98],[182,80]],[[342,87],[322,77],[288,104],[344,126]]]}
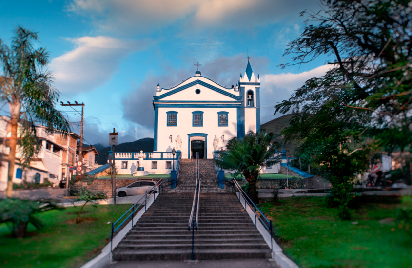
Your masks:
{"label": "tall slender palm with sunlit trunk before the left houses", "polygon": [[30,160],[39,153],[41,145],[37,138],[36,125],[46,126],[46,131],[58,130],[62,134],[70,131],[69,123],[55,109],[59,100],[59,92],[52,87],[53,77],[45,68],[50,62],[49,52],[43,48],[35,48],[34,41],[38,35],[31,30],[17,27],[12,38],[11,47],[0,39],[0,101],[8,104],[10,120],[7,130],[11,130],[8,157],[9,170],[7,197],[11,197],[13,173],[16,161],[16,146],[19,145],[23,168],[30,167]]}

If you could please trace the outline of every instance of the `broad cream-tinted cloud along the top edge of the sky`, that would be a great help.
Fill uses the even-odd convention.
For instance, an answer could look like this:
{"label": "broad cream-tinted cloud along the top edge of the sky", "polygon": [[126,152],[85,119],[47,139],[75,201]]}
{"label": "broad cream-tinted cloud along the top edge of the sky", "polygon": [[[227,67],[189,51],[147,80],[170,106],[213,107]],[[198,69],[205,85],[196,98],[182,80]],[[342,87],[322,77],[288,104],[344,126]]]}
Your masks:
{"label": "broad cream-tinted cloud along the top edge of the sky", "polygon": [[72,0],[66,10],[91,19],[101,29],[149,31],[171,23],[199,30],[249,29],[296,19],[319,0]]}

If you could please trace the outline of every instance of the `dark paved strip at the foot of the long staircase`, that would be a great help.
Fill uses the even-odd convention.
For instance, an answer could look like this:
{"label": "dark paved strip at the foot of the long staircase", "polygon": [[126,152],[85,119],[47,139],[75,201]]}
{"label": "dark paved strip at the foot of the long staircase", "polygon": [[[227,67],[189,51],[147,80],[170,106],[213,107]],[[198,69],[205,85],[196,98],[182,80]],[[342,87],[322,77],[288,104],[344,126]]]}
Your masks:
{"label": "dark paved strip at the foot of the long staircase", "polygon": [[134,261],[118,262],[107,268],[278,268],[275,261],[231,259],[207,261]]}

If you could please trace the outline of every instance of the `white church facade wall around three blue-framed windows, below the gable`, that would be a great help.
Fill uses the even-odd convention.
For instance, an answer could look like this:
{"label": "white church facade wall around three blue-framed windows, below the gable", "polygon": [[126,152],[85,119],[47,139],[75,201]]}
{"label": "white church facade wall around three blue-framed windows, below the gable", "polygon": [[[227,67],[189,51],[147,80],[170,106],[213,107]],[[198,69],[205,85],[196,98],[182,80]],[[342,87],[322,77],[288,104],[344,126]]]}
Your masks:
{"label": "white church facade wall around three blue-framed windows, below the gable", "polygon": [[[207,135],[207,158],[213,158],[212,152],[213,139],[215,135],[219,138],[218,148],[225,148],[225,143],[230,138],[237,136],[237,112],[236,108],[158,108],[158,135],[157,135],[157,151],[158,152],[170,152],[173,148],[177,149],[176,138],[180,135],[182,139],[182,158],[188,158],[188,134],[192,133],[205,133]],[[167,126],[167,114],[166,112],[176,111],[177,113],[177,126]],[[203,126],[193,126],[193,114],[194,111],[203,112]],[[228,112],[228,126],[218,126],[218,114],[217,112]],[[172,135],[173,142],[170,141],[169,136]],[[223,143],[222,136],[225,135]]]}

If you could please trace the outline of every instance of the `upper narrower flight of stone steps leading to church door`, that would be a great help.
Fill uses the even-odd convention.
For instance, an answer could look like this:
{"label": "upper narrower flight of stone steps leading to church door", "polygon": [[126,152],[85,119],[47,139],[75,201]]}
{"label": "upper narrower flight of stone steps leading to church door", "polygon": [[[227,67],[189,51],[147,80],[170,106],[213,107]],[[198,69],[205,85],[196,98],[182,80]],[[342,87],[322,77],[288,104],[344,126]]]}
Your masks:
{"label": "upper narrower flight of stone steps leading to church door", "polygon": [[[232,192],[232,188],[225,185],[222,189],[217,184],[215,163],[213,159],[199,159],[199,177],[201,179],[200,191],[207,192]],[[174,189],[170,186],[163,188],[164,193],[193,193],[196,184],[196,159],[181,159],[180,172],[177,185]]]}

